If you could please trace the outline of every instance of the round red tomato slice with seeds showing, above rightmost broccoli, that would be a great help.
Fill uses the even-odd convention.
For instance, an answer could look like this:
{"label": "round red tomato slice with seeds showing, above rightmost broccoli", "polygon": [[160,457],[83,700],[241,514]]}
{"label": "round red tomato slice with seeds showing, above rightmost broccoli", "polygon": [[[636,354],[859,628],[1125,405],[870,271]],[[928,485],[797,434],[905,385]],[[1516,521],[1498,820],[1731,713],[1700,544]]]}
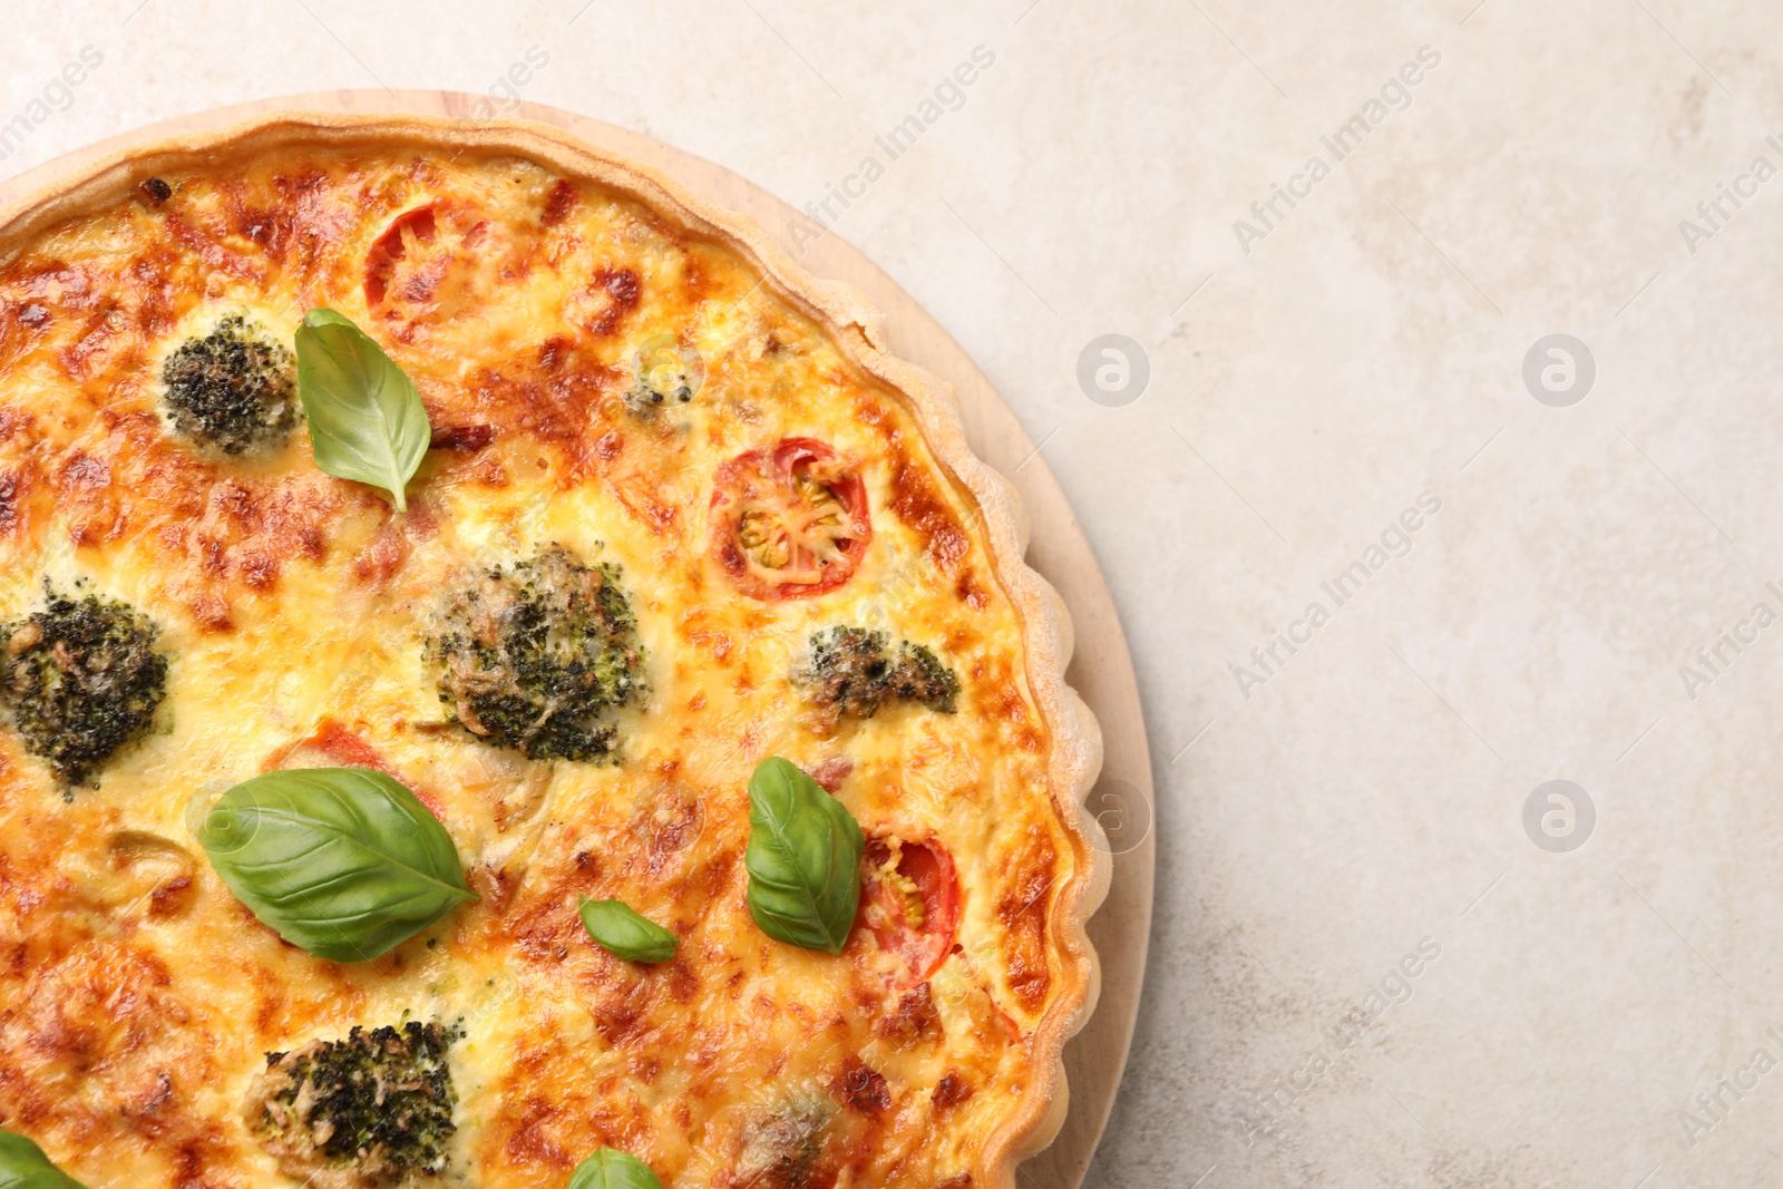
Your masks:
{"label": "round red tomato slice with seeds showing, above rightmost broccoli", "polygon": [[752,599],[808,599],[849,581],[874,538],[859,469],[808,437],[722,463],[711,556]]}

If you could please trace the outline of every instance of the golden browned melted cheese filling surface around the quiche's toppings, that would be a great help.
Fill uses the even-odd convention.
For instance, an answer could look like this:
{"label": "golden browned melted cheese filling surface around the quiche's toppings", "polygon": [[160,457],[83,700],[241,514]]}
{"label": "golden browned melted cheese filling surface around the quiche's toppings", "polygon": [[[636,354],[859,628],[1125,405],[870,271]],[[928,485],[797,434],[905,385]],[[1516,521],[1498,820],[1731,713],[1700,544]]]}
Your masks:
{"label": "golden browned melted cheese filling surface around the quiche's toppings", "polygon": [[[1075,852],[1016,613],[909,410],[726,246],[526,160],[330,150],[166,180],[0,266],[0,615],[86,579],[171,663],[153,733],[71,799],[0,727],[0,1127],[94,1189],[296,1184],[241,1119],[264,1054],[407,1016],[464,1029],[448,1184],[562,1184],[603,1144],[669,1185],[968,1184],[1034,1073]],[[367,253],[430,201],[369,308]],[[164,419],[184,337],[242,314],[289,346],[321,305],[428,406],[407,515],[319,472],[301,426],[230,460]],[[640,415],[631,360],[665,340],[703,381]],[[858,467],[872,540],[836,590],[744,597],[708,549],[713,472],[792,435]],[[423,661],[442,588],[553,542],[620,565],[637,611],[651,693],[617,767],[442,724]],[[834,624],[933,647],[959,711],[831,724],[790,674]],[[374,963],[282,943],[187,827],[194,795],[325,736],[415,788],[481,893]],[[751,922],[745,786],[776,754],[847,772],[868,832],[950,850],[959,927],[927,982],[870,929],[831,957]],[[606,954],[581,897],[679,955]]]}

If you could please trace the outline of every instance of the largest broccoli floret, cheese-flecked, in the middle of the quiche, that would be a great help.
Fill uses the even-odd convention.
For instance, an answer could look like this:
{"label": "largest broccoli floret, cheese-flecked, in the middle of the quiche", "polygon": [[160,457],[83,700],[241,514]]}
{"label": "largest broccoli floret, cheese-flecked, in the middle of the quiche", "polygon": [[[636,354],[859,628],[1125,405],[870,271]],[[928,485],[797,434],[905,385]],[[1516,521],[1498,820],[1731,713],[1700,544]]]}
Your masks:
{"label": "largest broccoli floret, cheese-flecked, in the middle of the quiche", "polygon": [[451,592],[424,658],[460,726],[530,759],[613,758],[612,713],[644,693],[619,567],[587,567],[562,545]]}

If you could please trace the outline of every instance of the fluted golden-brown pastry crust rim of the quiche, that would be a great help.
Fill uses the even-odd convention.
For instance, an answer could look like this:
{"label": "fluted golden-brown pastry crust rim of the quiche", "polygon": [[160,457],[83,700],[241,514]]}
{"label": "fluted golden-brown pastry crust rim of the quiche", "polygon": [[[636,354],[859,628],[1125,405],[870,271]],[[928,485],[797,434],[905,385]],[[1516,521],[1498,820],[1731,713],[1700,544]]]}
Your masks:
{"label": "fluted golden-brown pastry crust rim of the quiche", "polygon": [[[1039,945],[1057,961],[1057,966],[1050,972],[1029,973],[1029,979],[1050,977],[1056,982],[1050,988],[1050,998],[1043,989],[1032,1000],[1036,1004],[1048,1000],[1047,1011],[1031,1039],[1032,1075],[1016,1103],[979,1146],[977,1166],[972,1169],[974,1184],[1013,1185],[1016,1162],[1050,1143],[1064,1116],[1066,1087],[1059,1054],[1064,1041],[1082,1025],[1095,1004],[1097,961],[1084,934],[1084,923],[1105,895],[1111,865],[1105,850],[1093,845],[1097,824],[1080,808],[1082,795],[1088,791],[1100,767],[1100,734],[1088,708],[1064,685],[1064,665],[1072,651],[1070,620],[1052,588],[1022,562],[1025,524],[1022,522],[1018,501],[1009,485],[972,455],[952,403],[952,394],[927,373],[893,358],[884,349],[879,314],[858,292],[845,285],[820,282],[804,275],[761,228],[694,200],[672,182],[649,169],[590,150],[560,132],[538,125],[464,125],[414,116],[349,118],[289,114],[269,116],[216,135],[134,148],[93,166],[84,175],[70,178],[0,216],[0,266],[11,260],[23,246],[34,242],[39,235],[71,216],[116,201],[146,175],[175,171],[182,166],[189,168],[193,160],[214,166],[276,153],[283,148],[316,148],[328,143],[514,153],[535,160],[560,176],[590,182],[626,194],[649,210],[658,212],[670,225],[727,244],[768,280],[781,299],[824,324],[854,365],[902,398],[920,424],[929,453],[970,492],[981,517],[979,528],[990,551],[995,579],[1013,601],[1020,619],[1029,693],[1048,729],[1047,772],[1050,793],[1057,816],[1075,845],[1075,856],[1072,856],[1072,863],[1068,865],[1070,875],[1054,898],[1052,913],[1043,913],[1038,918],[1031,914],[1027,906],[1032,902],[1032,897],[998,906],[1004,922],[1016,936],[1022,936],[1023,931],[1043,931],[1045,936],[1034,936],[1032,943]],[[251,260],[235,258],[214,244],[196,250],[214,251],[214,264],[225,273],[239,275],[242,271],[251,273],[253,269]],[[624,303],[628,291],[622,280],[608,283],[606,291],[615,303]],[[599,310],[592,314],[594,319],[601,316]],[[0,339],[0,349],[4,348],[5,342]],[[127,431],[128,426],[119,428],[119,433]],[[453,433],[462,440],[453,439]],[[453,428],[448,430],[444,446],[451,449],[456,442],[458,447],[474,449],[474,442],[471,442],[474,437],[474,426]],[[70,481],[78,485],[78,476],[75,480],[68,480],[66,474],[59,478],[64,487]],[[902,504],[900,515],[908,522],[920,524],[925,515],[927,494],[922,490],[924,481],[922,474],[915,474],[909,483],[895,485]],[[12,496],[5,492],[0,492],[0,496],[5,496],[5,504],[11,508]],[[93,519],[98,521],[100,517]],[[266,517],[262,517],[264,521]],[[276,524],[282,531],[298,533],[296,540],[301,545],[303,515],[278,517]],[[0,529],[4,528],[0,524]],[[931,560],[947,570],[952,554],[947,528],[938,526],[936,531],[925,533],[925,540],[929,542]],[[264,553],[269,558],[291,556],[292,544],[289,540],[269,540],[266,545]],[[364,572],[374,576],[380,567],[390,565],[389,556],[401,547],[401,542],[383,542],[383,553],[380,554],[378,544],[373,542],[362,562],[366,567]],[[961,581],[970,583],[970,576]],[[1050,857],[1048,854],[1036,859],[1032,870],[1023,875],[1027,881],[1036,882],[1038,890],[1034,895],[1045,891],[1045,886],[1052,879]],[[1011,972],[1011,989],[1020,998],[1023,986],[1032,984],[1025,984],[1018,973]],[[622,1029],[626,1020],[624,1007],[617,1007],[615,1011],[620,1014],[610,1016],[610,1027]],[[909,1013],[900,1011],[895,1020],[900,1021],[895,1027],[920,1030],[924,1020],[922,1005],[913,1004]],[[938,1087],[936,1103],[940,1107],[950,1105],[956,1093],[949,1091],[941,1095]],[[870,1107],[875,1102],[877,1089],[872,1086],[872,1078],[863,1075],[850,1082],[847,1093],[842,1096],[850,1103],[856,1100],[867,1103],[868,1109],[865,1114],[872,1114]],[[943,1102],[943,1098],[949,1102]]]}

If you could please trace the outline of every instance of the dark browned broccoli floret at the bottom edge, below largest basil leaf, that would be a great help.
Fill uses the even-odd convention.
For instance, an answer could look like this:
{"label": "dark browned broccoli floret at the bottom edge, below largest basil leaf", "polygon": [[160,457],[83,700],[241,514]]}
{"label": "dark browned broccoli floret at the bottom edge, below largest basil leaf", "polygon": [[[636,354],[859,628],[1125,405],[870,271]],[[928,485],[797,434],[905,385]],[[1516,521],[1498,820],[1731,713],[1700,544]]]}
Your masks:
{"label": "dark browned broccoli floret at the bottom edge, below largest basil leaf", "polygon": [[446,1050],[460,1032],[410,1020],[266,1054],[242,1119],[278,1168],[330,1189],[446,1169],[458,1095]]}

